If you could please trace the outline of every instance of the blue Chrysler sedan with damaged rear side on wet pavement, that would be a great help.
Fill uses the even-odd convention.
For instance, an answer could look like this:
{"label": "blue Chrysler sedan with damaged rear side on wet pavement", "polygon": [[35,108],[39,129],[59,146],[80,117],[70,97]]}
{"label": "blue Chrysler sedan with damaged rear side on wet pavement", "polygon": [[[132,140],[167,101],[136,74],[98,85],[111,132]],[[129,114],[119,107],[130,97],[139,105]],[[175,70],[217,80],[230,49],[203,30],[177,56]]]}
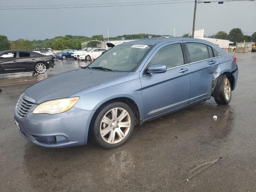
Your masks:
{"label": "blue Chrysler sedan with damaged rear side on wet pavement", "polygon": [[14,118],[20,134],[40,146],[84,145],[90,136],[115,148],[149,120],[212,96],[228,104],[237,80],[236,57],[208,41],[137,40],[111,48],[88,67],[30,86]]}

